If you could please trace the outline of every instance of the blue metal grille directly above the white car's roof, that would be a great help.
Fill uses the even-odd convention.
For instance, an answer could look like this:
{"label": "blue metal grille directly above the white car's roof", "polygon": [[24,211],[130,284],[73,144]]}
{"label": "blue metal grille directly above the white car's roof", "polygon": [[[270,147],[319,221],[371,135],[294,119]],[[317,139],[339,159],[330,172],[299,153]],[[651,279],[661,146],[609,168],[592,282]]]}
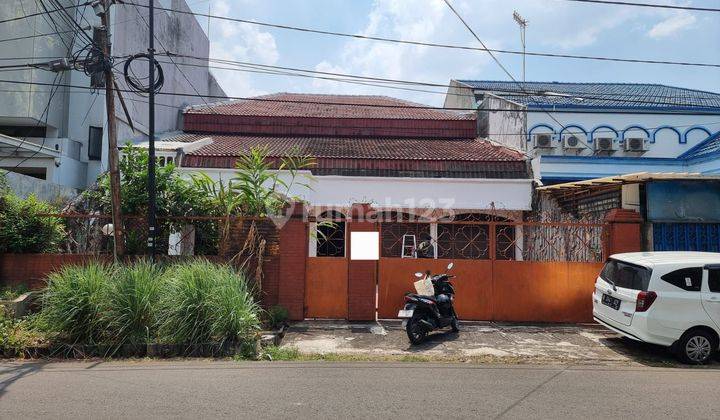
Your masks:
{"label": "blue metal grille directly above the white car's roof", "polygon": [[720,223],[653,223],[653,249],[720,252]]}

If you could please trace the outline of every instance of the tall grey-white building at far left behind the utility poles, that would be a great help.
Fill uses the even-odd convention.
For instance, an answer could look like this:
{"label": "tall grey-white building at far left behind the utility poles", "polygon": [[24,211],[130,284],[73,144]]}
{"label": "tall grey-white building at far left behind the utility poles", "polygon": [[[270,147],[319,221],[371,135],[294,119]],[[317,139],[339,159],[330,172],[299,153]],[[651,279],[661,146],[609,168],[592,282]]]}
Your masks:
{"label": "tall grey-white building at far left behind the utility poles", "polygon": [[[47,62],[47,57],[72,57],[89,43],[87,38],[76,34],[75,25],[100,25],[100,19],[89,3],[56,13],[70,13],[72,19],[63,16],[54,20],[40,13],[39,3],[27,0],[20,3],[22,7],[3,7],[0,19],[34,13],[37,16],[2,24],[3,33],[15,38],[0,43],[0,59],[4,65]],[[184,0],[173,0],[172,8],[190,11]],[[147,8],[116,2],[110,10],[112,54],[122,57],[147,51]],[[178,54],[208,57],[208,38],[194,16],[156,11],[155,24],[160,29],[156,31],[159,51],[167,49]],[[93,36],[91,29],[86,33]],[[225,96],[208,71],[207,61],[204,61],[205,66],[198,66],[197,60],[173,58],[179,64],[175,66],[167,58],[159,60],[165,76],[161,93],[181,92],[192,96],[157,96],[155,120],[158,132],[177,129],[180,111],[187,105],[203,103],[202,98],[194,96],[196,92]],[[183,65],[187,63],[192,66]],[[122,70],[120,59],[115,60],[115,65]],[[34,191],[54,191],[53,188],[40,188],[42,183],[37,180],[41,180],[76,192],[94,183],[97,176],[107,170],[104,90],[89,89],[90,77],[82,71],[24,68],[4,71],[0,79],[5,80],[0,81],[0,89],[4,92],[0,101],[0,168],[35,178],[31,182],[15,182],[13,186],[22,189],[24,185],[31,185]],[[121,90],[128,89],[122,76],[117,77],[117,83]],[[60,86],[55,88],[55,85]],[[118,143],[147,138],[147,98],[123,92],[123,99],[133,128],[121,102],[116,99]]]}

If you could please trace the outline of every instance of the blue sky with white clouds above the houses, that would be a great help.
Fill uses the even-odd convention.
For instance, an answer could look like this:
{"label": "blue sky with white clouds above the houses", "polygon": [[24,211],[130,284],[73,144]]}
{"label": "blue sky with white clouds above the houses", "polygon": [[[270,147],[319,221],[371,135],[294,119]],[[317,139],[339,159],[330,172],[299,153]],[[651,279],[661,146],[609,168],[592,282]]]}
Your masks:
{"label": "blue sky with white clouds above the houses", "polygon": [[[641,0],[720,7],[719,0]],[[187,0],[199,13],[326,31],[478,47],[442,0]],[[521,50],[512,18],[526,20],[527,51],[720,63],[720,13],[566,0],[451,0],[490,48]],[[205,18],[198,18],[208,28]],[[510,80],[484,51],[309,34],[210,20],[211,58],[446,85]],[[496,54],[517,80],[518,55]],[[337,81],[213,69],[230,96],[274,92],[388,95],[442,105],[443,88],[407,91]],[[528,81],[662,83],[720,92],[720,68],[527,57]]]}

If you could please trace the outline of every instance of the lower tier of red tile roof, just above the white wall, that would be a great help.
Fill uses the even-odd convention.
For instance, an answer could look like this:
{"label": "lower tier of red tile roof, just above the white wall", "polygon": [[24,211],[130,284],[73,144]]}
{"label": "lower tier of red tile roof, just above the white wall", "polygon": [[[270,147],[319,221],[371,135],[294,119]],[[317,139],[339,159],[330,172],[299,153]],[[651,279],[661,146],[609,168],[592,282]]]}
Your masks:
{"label": "lower tier of red tile roof, just above the white wall", "polygon": [[524,162],[525,156],[484,139],[403,139],[347,137],[270,137],[180,134],[164,141],[212,143],[189,156],[240,156],[251,148],[266,147],[270,157],[288,155],[337,159],[393,159],[462,162]]}

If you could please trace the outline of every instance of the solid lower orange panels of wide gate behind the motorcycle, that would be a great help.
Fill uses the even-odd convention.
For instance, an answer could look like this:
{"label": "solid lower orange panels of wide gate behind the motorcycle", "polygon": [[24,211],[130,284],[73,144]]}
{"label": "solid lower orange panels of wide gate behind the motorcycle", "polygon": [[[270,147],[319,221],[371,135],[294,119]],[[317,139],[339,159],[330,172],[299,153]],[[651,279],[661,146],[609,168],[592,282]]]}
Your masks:
{"label": "solid lower orange panels of wide gate behind the motorcycle", "polygon": [[[395,318],[413,273],[442,273],[451,260],[381,258],[378,317]],[[458,316],[466,320],[590,322],[602,263],[454,260]]]}

